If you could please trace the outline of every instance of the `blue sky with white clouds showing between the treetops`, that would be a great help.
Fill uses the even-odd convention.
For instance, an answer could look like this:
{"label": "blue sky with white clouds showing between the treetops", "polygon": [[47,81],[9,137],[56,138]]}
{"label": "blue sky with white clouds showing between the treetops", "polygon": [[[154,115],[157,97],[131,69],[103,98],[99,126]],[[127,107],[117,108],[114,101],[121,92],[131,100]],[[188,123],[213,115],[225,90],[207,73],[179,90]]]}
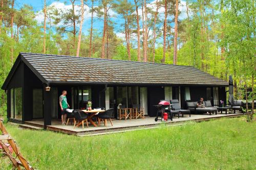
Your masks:
{"label": "blue sky with white clouds showing between the treetops", "polygon": [[[132,3],[134,3],[133,0],[129,0]],[[156,9],[155,8],[155,0],[152,1],[147,1],[147,7],[151,7],[153,10]],[[15,1],[15,8],[21,8],[24,4],[30,5],[33,7],[33,10],[36,12],[36,20],[38,21],[38,23],[42,23],[44,21],[44,15],[42,13],[42,8],[44,7],[44,0],[16,0]],[[77,13],[79,11],[79,4],[80,1],[78,0],[76,2],[77,6],[75,7],[75,10],[77,10]],[[88,0],[87,3],[88,5],[91,6],[91,1]],[[69,0],[63,1],[63,0],[47,0],[47,6],[54,6],[57,9],[61,9],[63,11],[72,8],[71,3]],[[97,4],[95,4],[95,6],[97,6]],[[84,21],[83,21],[83,27],[82,27],[82,32],[84,34],[89,34],[89,29],[91,27],[91,13],[90,13],[90,9],[88,6],[84,6],[84,8],[86,8],[86,13],[84,14]],[[179,5],[179,10],[181,11],[180,15],[179,15],[179,19],[182,20],[184,18],[186,18],[186,2],[185,1],[180,1],[180,5]],[[161,7],[159,9],[159,14],[160,16],[163,17],[163,12],[164,12],[164,8]],[[118,37],[124,38],[124,34],[120,31],[121,25],[123,24],[124,20],[117,15],[117,13],[113,10],[111,10],[109,12],[109,14],[111,16],[113,16],[111,19],[114,22],[114,32],[116,33],[116,35]],[[142,16],[142,11],[141,9],[139,9],[139,15]],[[150,16],[148,16],[150,17]],[[174,16],[168,16],[169,19],[173,18]],[[142,23],[141,23],[142,25]],[[79,25],[77,25],[77,27],[79,28]],[[103,20],[102,19],[94,19],[94,29],[99,30],[99,32],[101,32],[101,30],[103,29]]]}

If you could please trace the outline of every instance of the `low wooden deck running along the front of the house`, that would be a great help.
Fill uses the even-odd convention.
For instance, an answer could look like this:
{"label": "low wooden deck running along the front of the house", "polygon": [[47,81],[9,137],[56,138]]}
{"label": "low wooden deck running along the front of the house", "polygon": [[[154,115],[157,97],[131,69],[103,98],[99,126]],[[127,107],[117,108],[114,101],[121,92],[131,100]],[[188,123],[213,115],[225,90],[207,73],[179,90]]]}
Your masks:
{"label": "low wooden deck running along the front of the house", "polygon": [[[236,114],[217,114],[217,115],[207,115],[207,114],[200,114],[195,115],[191,114],[191,117],[189,115],[184,115],[184,117],[175,117],[173,121],[168,120],[167,122],[164,122],[168,125],[175,125],[175,124],[184,124],[188,121],[194,121],[194,122],[201,122],[206,121],[210,119],[217,119],[221,117],[238,117],[242,116],[242,113],[236,113]],[[162,122],[159,120],[158,122],[155,122],[155,117],[145,117],[144,119],[127,119],[127,120],[116,120],[113,119],[113,126],[111,126],[110,122],[108,122],[108,127],[105,127],[103,123],[99,127],[94,127],[89,124],[89,128],[84,126],[84,129],[82,127],[79,128],[73,128],[73,124],[71,125],[69,123],[68,126],[61,125],[60,119],[52,119],[52,125],[47,126],[48,130],[55,131],[55,132],[61,132],[61,133],[67,133],[72,135],[78,135],[78,136],[84,136],[84,135],[99,135],[99,134],[108,134],[108,133],[117,133],[117,132],[125,132],[125,131],[131,131],[131,130],[138,130],[138,129],[144,129],[144,128],[155,128]],[[26,121],[26,125],[35,126],[35,127],[44,127],[44,120],[37,119],[32,121]]]}

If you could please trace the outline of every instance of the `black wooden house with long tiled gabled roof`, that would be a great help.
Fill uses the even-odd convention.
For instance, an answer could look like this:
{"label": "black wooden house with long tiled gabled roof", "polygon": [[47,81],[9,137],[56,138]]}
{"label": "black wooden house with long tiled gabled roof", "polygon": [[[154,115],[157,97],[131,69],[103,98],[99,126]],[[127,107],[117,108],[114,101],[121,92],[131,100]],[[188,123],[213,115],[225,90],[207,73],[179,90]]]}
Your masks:
{"label": "black wooden house with long tiled gabled roof", "polygon": [[[50,91],[46,87],[50,87]],[[20,53],[2,89],[7,92],[7,115],[12,122],[44,119],[45,126],[60,118],[58,96],[68,91],[74,109],[115,108],[140,104],[156,115],[160,100],[226,101],[228,83],[192,66],[119,61],[62,55]]]}

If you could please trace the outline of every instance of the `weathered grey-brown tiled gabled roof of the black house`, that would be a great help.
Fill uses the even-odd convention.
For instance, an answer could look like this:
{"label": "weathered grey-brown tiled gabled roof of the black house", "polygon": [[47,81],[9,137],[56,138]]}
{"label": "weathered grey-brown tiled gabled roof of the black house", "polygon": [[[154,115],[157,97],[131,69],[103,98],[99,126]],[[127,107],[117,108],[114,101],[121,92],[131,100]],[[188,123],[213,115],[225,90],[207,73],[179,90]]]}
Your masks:
{"label": "weathered grey-brown tiled gabled roof of the black house", "polygon": [[34,53],[19,57],[45,83],[228,85],[192,66]]}

